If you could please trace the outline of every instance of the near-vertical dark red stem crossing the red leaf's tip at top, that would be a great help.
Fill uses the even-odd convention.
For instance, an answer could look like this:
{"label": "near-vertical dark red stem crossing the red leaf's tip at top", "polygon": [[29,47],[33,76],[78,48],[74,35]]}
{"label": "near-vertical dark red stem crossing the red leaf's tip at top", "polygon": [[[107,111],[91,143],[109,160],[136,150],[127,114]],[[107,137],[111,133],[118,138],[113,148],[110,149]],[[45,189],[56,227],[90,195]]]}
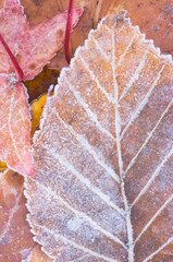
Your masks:
{"label": "near-vertical dark red stem crossing the red leaf's tip at top", "polygon": [[66,32],[65,32],[65,58],[69,63],[71,61],[70,41],[71,41],[71,32],[72,32],[73,8],[74,8],[74,0],[70,0]]}

